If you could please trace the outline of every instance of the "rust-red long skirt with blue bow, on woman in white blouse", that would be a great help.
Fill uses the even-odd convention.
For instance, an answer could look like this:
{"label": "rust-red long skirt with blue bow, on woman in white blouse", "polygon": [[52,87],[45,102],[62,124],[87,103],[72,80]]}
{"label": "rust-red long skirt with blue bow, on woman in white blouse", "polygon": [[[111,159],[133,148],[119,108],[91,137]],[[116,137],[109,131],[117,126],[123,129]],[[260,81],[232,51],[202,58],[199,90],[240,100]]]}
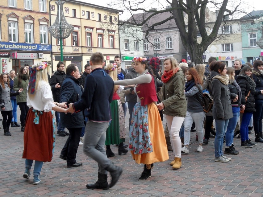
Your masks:
{"label": "rust-red long skirt with blue bow, on woman in white blouse", "polygon": [[55,136],[53,112],[39,112],[29,109],[24,130],[22,158],[51,162],[55,147]]}

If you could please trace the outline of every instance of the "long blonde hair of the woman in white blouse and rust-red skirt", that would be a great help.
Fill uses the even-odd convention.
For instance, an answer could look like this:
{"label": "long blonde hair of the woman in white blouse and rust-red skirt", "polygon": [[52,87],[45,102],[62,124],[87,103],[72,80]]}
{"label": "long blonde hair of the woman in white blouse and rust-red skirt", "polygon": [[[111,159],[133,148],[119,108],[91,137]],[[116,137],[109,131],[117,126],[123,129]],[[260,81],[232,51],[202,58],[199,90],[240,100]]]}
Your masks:
{"label": "long blonde hair of the woman in white blouse and rust-red skirt", "polygon": [[[32,66],[32,68],[38,68],[42,66],[42,63],[37,63],[37,64],[34,64]],[[36,90],[38,90],[40,87],[40,83],[41,81],[44,81],[46,82],[47,84],[48,83],[48,72],[47,72],[47,69],[40,69],[40,70],[36,70],[36,74],[35,74],[35,92],[33,94],[31,94],[31,86],[28,87],[28,91],[27,91],[27,95],[29,96],[29,98],[34,98],[35,97],[35,93],[36,93]]]}

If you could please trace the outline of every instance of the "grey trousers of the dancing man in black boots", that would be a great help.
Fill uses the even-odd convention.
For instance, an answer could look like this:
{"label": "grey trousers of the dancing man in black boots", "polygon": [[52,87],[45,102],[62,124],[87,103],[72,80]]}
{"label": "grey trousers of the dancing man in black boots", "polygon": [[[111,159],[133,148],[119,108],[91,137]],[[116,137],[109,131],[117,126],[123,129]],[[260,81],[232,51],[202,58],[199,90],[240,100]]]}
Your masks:
{"label": "grey trousers of the dancing man in black boots", "polygon": [[105,152],[106,129],[109,127],[109,123],[88,121],[85,127],[83,152],[98,162],[100,174],[107,174],[105,168],[111,163]]}

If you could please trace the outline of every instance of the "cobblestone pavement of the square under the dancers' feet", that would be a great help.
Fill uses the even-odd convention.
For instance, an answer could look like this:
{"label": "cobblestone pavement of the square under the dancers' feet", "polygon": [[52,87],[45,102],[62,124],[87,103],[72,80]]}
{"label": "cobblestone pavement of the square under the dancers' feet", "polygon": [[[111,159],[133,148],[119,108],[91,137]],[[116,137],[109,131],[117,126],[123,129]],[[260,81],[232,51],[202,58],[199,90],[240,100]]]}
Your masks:
{"label": "cobblestone pavement of the square under the dancers' feet", "polygon": [[[19,111],[19,110],[18,110]],[[19,117],[19,115],[18,115]],[[128,112],[126,125],[128,128]],[[165,121],[164,121],[165,123]],[[1,124],[2,125],[2,124]],[[169,161],[156,163],[152,177],[139,181],[143,164],[136,164],[131,154],[119,156],[118,149],[111,146],[115,157],[110,158],[116,165],[123,167],[119,182],[110,190],[89,190],[87,183],[97,180],[98,166],[94,160],[83,154],[82,146],[77,152],[77,162],[83,165],[67,168],[66,162],[59,158],[60,151],[67,137],[56,136],[56,146],[52,162],[44,163],[38,185],[31,179],[23,178],[24,159],[23,132],[11,128],[12,136],[0,137],[0,196],[90,196],[90,197],[174,197],[174,196],[263,196],[263,144],[253,148],[240,147],[240,139],[234,143],[240,154],[233,155],[228,163],[214,162],[213,139],[203,146],[203,152],[196,152],[198,142],[196,133],[191,133],[190,153],[182,154],[182,167],[173,170],[169,165],[173,160],[169,152]],[[249,135],[254,141],[254,134]],[[127,129],[128,138],[128,129]],[[110,176],[109,176],[109,181]]]}

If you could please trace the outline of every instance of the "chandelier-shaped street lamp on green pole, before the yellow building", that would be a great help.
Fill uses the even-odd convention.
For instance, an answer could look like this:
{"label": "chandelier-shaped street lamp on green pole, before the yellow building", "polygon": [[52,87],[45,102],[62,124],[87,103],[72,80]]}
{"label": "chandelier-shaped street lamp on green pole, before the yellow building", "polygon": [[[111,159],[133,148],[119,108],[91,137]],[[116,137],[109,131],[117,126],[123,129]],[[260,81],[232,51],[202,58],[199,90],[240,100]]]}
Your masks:
{"label": "chandelier-shaped street lamp on green pole, before the yellow building", "polygon": [[68,38],[71,32],[74,30],[74,27],[67,23],[66,18],[63,13],[63,4],[65,1],[56,1],[57,5],[57,15],[56,20],[53,25],[48,27],[48,32],[56,38],[60,39],[60,56],[61,61],[63,61],[63,48],[62,48],[62,39]]}

